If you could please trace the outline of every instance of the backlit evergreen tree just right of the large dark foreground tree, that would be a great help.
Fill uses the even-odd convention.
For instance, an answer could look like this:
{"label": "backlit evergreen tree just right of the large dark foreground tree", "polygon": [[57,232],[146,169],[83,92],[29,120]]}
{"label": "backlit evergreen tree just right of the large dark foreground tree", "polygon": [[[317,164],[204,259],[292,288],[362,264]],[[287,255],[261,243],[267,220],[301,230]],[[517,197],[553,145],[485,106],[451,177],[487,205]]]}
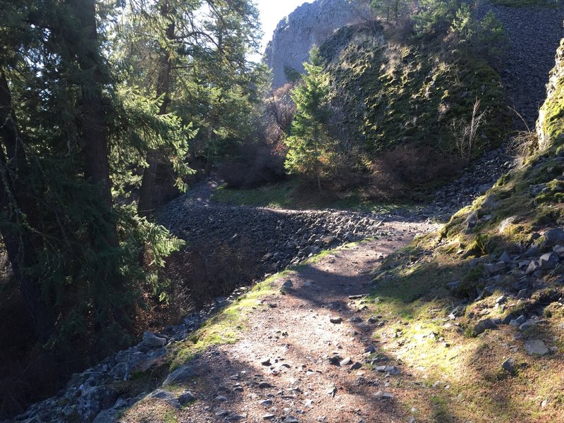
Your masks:
{"label": "backlit evergreen tree just right of the large dark foreground tree", "polygon": [[[128,85],[149,87],[153,95],[163,97],[161,114],[174,113],[183,123],[194,123],[192,156],[203,149],[211,166],[221,144],[247,128],[255,80],[264,73],[247,60],[258,47],[257,9],[249,0],[138,1],[131,4],[125,21],[120,37],[129,49],[126,60],[135,63]],[[157,173],[171,174],[167,163],[175,156],[169,149],[147,152],[140,186],[142,214],[161,203],[155,195]],[[174,178],[168,179],[171,185]]]}

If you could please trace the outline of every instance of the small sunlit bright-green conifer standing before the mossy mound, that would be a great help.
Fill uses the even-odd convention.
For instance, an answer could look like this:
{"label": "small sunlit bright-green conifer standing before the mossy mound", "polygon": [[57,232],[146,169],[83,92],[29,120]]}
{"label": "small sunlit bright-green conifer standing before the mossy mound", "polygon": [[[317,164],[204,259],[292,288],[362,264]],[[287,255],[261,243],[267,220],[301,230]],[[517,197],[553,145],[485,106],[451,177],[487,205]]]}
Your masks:
{"label": "small sunlit bright-green conifer standing before the mossy mound", "polygon": [[304,67],[302,83],[291,94],[296,111],[291,135],[285,140],[285,165],[290,173],[314,177],[320,191],[321,176],[331,164],[334,142],[328,132],[329,80],[318,47],[309,52],[309,63],[304,63]]}

